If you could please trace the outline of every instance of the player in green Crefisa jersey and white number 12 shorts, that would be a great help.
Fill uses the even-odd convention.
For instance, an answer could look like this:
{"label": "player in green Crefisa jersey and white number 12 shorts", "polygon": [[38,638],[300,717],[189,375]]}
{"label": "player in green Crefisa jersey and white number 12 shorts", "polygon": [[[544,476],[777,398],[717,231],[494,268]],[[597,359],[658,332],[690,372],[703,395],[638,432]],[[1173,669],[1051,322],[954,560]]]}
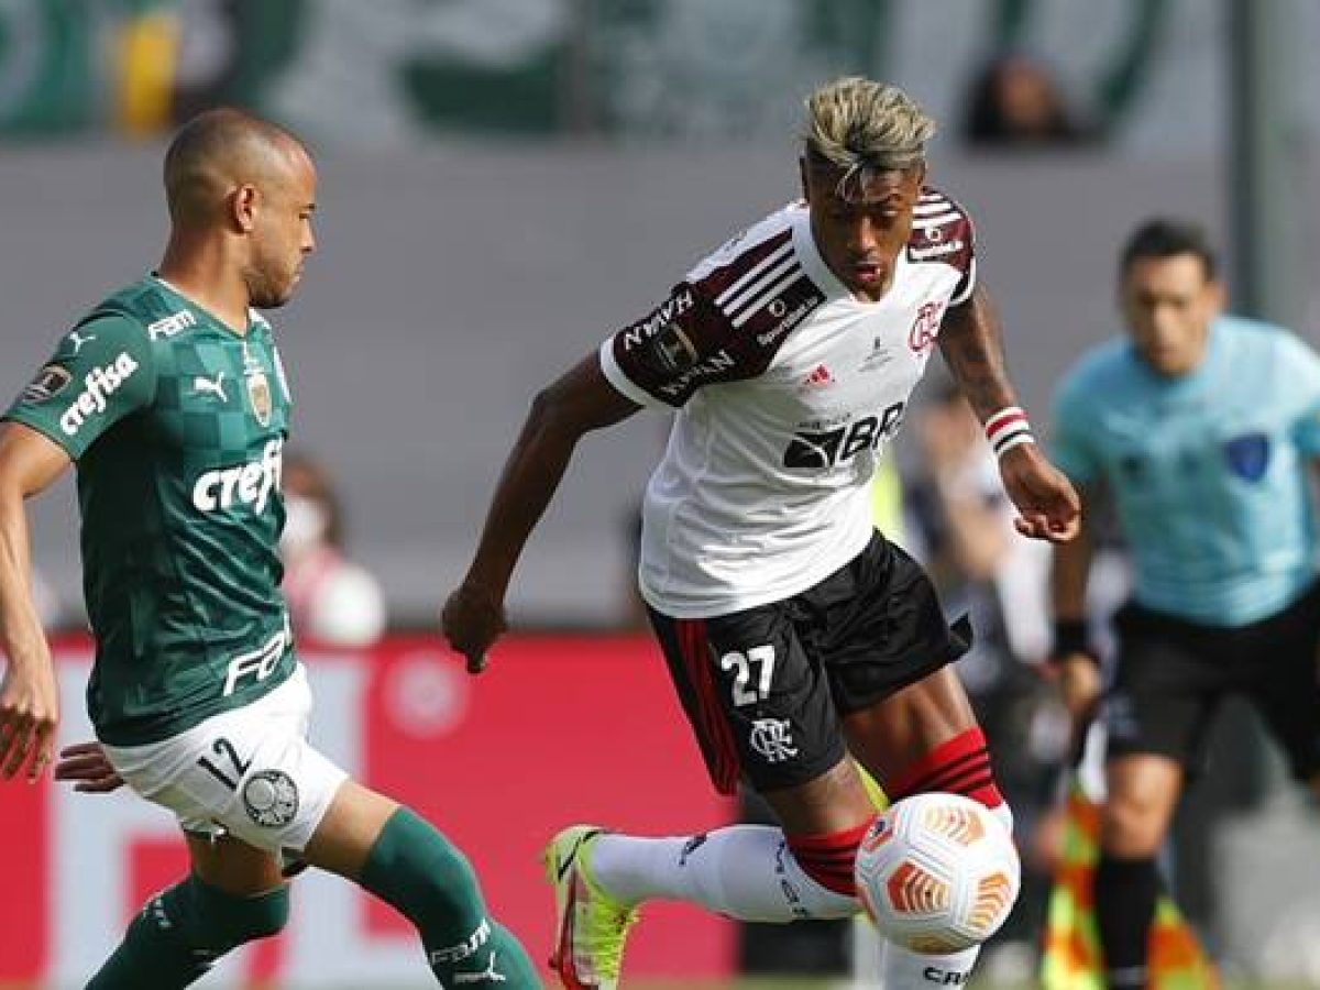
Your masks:
{"label": "player in green Crefisa jersey and white number 12 shorts", "polygon": [[288,132],[216,110],[170,145],[165,187],[160,268],[78,322],[0,424],[0,774],[36,779],[51,759],[24,500],[73,463],[99,747],[62,776],[170,809],[191,858],[88,986],[187,986],[279,932],[288,850],[403,912],[444,986],[540,986],[463,855],[306,742],[276,556],[290,396],[255,310],[290,298],[315,247],[315,166]]}

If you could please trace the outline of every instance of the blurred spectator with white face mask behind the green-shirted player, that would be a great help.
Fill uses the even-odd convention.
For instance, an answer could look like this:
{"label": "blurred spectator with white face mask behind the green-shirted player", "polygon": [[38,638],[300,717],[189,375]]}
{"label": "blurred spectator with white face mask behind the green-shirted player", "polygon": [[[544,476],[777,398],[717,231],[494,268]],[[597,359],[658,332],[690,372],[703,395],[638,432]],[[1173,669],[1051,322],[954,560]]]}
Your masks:
{"label": "blurred spectator with white face mask behind the green-shirted player", "polygon": [[326,645],[368,647],[385,631],[380,585],[345,556],[343,508],[325,467],[306,454],[284,462],[280,537],[293,630]]}

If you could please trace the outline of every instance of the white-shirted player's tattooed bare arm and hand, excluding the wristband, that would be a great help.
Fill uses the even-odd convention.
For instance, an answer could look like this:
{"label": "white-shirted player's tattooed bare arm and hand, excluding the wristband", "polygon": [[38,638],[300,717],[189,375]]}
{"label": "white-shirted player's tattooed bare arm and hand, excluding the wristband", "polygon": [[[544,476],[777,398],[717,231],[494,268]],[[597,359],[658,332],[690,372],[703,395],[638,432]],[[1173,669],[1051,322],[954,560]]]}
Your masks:
{"label": "white-shirted player's tattooed bare arm and hand, excluding the wristband", "polygon": [[[1018,405],[1005,368],[999,318],[981,285],[945,314],[940,351],[982,424],[1005,407]],[[999,474],[1020,513],[1018,532],[1052,543],[1067,543],[1077,535],[1077,492],[1034,442],[1006,450],[999,458]]]}

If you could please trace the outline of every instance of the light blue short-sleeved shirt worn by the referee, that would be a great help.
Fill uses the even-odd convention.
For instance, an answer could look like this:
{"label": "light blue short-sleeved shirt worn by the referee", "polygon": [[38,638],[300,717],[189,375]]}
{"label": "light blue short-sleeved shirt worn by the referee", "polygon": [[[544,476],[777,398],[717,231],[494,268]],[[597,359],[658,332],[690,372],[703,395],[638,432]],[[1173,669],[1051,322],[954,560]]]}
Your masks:
{"label": "light blue short-sleeved shirt worn by the referee", "polygon": [[1203,624],[1274,615],[1315,581],[1316,455],[1320,358],[1267,323],[1220,318],[1180,378],[1110,341],[1056,396],[1055,462],[1113,494],[1135,599]]}

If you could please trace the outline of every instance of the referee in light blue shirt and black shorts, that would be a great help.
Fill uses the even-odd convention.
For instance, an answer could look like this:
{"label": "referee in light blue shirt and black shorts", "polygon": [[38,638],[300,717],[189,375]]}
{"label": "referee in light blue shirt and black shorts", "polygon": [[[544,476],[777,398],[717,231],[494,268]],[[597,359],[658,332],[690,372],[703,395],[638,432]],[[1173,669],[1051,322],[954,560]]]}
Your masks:
{"label": "referee in light blue shirt and black shorts", "polygon": [[[1126,334],[1059,387],[1053,455],[1084,502],[1106,490],[1134,565],[1105,700],[1107,800],[1096,912],[1109,987],[1147,986],[1155,857],[1209,721],[1249,697],[1320,793],[1320,589],[1307,469],[1320,457],[1320,358],[1222,313],[1196,224],[1143,223],[1119,261]],[[1100,696],[1084,598],[1092,544],[1055,548],[1053,663],[1085,719]]]}

